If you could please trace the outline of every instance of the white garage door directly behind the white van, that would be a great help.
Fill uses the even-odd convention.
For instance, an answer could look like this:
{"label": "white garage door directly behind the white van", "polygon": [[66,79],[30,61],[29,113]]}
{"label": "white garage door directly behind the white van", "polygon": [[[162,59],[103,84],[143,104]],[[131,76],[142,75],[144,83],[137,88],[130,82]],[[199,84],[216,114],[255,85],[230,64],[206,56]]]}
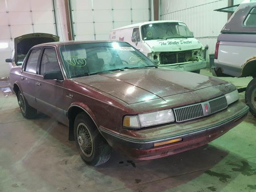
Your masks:
{"label": "white garage door directly behind the white van", "polygon": [[110,30],[150,20],[150,0],[72,0],[75,40],[108,40]]}

